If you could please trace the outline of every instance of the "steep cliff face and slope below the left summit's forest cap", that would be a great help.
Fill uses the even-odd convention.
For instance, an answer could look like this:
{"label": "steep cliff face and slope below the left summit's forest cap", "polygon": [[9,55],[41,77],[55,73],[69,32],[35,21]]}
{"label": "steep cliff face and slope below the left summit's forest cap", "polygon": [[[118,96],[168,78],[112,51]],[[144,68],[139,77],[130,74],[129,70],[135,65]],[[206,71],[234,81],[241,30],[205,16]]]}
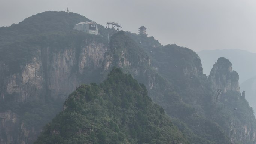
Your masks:
{"label": "steep cliff face and slope below the left summit's forest cap", "polygon": [[[99,39],[98,42],[95,41],[97,39]],[[39,44],[39,47],[42,47],[36,49],[38,56],[33,56],[31,61],[19,63],[22,62],[19,58],[23,60],[24,57],[1,61],[0,77],[3,81],[1,81],[0,111],[4,115],[14,114],[13,117],[3,116],[1,119],[0,127],[4,130],[1,138],[4,141],[20,140],[18,135],[10,139],[6,137],[6,135],[12,135],[13,131],[19,133],[19,135],[24,135],[22,137],[25,138],[35,138],[30,134],[37,135],[38,133],[34,134],[35,131],[40,132],[41,128],[37,129],[37,127],[36,130],[33,130],[35,128],[28,123],[31,128],[25,130],[27,128],[22,125],[28,119],[32,119],[34,122],[39,120],[37,124],[44,125],[60,110],[62,102],[76,86],[79,86],[82,82],[92,82],[92,79],[95,82],[101,79],[101,77],[95,75],[99,74],[97,69],[101,67],[100,63],[103,61],[104,52],[107,50],[104,39],[100,36],[91,37],[77,33],[70,33],[65,37],[55,36],[55,40],[59,40],[60,43],[67,42],[69,44],[68,48],[65,48],[66,46],[55,46],[51,44],[51,40],[53,39],[46,40],[46,43],[50,43],[47,47]],[[7,51],[9,50],[7,49]],[[14,66],[13,63],[17,66]],[[30,105],[30,103],[39,103],[39,105]],[[46,108],[55,107],[55,109],[46,109],[42,110],[42,113],[38,113],[40,110],[37,110],[37,108],[40,105],[45,105]],[[25,120],[21,120],[20,118],[25,113],[37,117],[27,115],[28,117],[25,117]],[[40,123],[40,120],[43,120],[43,122]],[[11,125],[6,125],[7,123],[11,123]],[[24,138],[21,139],[21,141],[24,140]]]}

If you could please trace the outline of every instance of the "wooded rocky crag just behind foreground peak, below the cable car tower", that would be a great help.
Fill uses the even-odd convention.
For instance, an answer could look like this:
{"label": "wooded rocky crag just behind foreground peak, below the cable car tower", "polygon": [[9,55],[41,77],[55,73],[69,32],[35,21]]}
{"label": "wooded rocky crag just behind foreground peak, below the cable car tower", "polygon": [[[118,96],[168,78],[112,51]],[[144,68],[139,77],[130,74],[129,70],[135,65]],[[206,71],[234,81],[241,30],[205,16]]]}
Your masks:
{"label": "wooded rocky crag just behind foreground peak, below the cable car tower", "polygon": [[110,49],[105,54],[103,68],[110,71],[112,67],[119,67],[125,73],[132,74],[140,83],[144,83],[151,89],[155,83],[154,74],[149,74],[148,67],[151,66],[151,59],[145,51],[130,37],[119,31],[112,36]]}

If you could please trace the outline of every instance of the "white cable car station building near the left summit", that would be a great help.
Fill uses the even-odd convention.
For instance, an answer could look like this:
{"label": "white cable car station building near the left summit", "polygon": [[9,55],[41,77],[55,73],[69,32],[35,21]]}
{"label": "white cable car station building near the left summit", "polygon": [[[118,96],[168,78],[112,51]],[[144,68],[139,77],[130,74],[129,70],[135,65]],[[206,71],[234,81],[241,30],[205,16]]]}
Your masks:
{"label": "white cable car station building near the left summit", "polygon": [[83,31],[88,34],[98,35],[97,23],[94,21],[80,22],[80,23],[76,24],[73,29],[78,30],[78,31]]}

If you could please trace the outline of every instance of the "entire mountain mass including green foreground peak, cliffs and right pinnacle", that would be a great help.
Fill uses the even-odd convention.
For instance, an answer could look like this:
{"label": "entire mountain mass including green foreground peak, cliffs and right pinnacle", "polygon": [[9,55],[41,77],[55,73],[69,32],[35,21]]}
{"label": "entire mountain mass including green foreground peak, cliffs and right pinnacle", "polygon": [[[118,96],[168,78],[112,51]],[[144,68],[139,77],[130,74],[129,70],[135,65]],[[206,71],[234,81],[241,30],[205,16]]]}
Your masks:
{"label": "entire mountain mass including green foreground peak, cliffs and right pinnacle", "polygon": [[255,144],[232,61],[216,59],[207,77],[189,48],[121,30],[108,40],[100,25],[99,35],[73,30],[83,21],[43,12],[0,28],[1,143],[42,132],[36,143]]}

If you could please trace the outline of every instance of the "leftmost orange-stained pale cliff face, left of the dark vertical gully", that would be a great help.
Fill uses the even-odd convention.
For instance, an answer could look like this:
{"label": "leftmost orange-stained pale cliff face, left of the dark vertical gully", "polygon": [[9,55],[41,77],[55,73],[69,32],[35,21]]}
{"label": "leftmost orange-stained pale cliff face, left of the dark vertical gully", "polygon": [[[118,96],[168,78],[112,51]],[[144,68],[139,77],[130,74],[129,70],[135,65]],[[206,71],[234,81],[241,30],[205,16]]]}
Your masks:
{"label": "leftmost orange-stained pale cliff face, left of the dark vertical gully", "polygon": [[[28,99],[38,99],[38,94],[43,88],[42,62],[40,59],[33,58],[32,62],[22,67],[21,73],[10,74],[3,77],[1,99],[6,99],[10,95],[14,96],[15,102],[25,102]],[[0,70],[1,75],[5,76],[4,70]]]}

